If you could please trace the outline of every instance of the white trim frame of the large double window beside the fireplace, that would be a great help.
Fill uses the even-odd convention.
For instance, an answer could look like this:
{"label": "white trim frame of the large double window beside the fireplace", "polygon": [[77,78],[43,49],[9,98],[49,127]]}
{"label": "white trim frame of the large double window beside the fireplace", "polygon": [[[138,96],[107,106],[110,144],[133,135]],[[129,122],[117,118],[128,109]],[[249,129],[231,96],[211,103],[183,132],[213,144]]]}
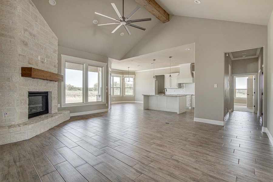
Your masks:
{"label": "white trim frame of the large double window beside the fireplace", "polygon": [[[77,57],[73,57],[73,56],[67,56],[67,55],[63,55],[61,54],[61,58],[62,58],[62,65],[61,65],[61,74],[64,77],[64,81],[62,82],[62,86],[61,86],[61,107],[73,107],[73,106],[86,106],[86,105],[96,105],[96,104],[106,104],[106,78],[107,77],[107,63],[104,62],[99,62],[99,61],[93,61],[93,60],[89,60],[89,59],[83,59],[83,58],[77,58]],[[85,67],[88,65],[95,65],[95,66],[101,66],[103,67],[103,82],[102,82],[102,88],[103,88],[103,100],[101,102],[88,102],[88,97],[85,97],[84,103],[69,103],[66,104],[66,82],[65,82],[65,78],[66,78],[66,73],[65,73],[65,69],[66,69],[66,61],[70,61],[70,62],[76,62],[76,63],[84,63],[84,76],[83,79],[85,80],[85,84],[86,86],[88,86],[88,69],[85,69]],[[83,86],[84,87],[84,86]],[[88,89],[84,89],[84,94],[85,96],[88,96]]]}

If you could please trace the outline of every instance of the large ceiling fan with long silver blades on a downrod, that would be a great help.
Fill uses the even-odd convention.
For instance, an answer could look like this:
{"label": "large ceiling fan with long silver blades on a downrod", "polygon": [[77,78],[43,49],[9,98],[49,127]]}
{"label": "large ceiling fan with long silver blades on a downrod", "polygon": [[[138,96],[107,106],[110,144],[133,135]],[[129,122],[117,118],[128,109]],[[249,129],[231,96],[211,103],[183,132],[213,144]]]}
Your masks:
{"label": "large ceiling fan with long silver blades on a downrod", "polygon": [[139,6],[136,6],[136,8],[125,18],[124,17],[124,0],[123,0],[123,4],[122,4],[122,16],[120,15],[120,12],[119,10],[116,8],[116,5],[114,3],[111,3],[111,5],[113,6],[114,10],[116,11],[116,14],[118,15],[118,17],[120,18],[119,20],[118,19],[114,19],[114,18],[111,18],[109,16],[106,16],[106,15],[103,15],[103,14],[100,14],[98,12],[95,12],[95,14],[97,15],[101,15],[101,16],[104,16],[106,18],[109,18],[109,19],[112,19],[112,20],[115,20],[117,22],[114,22],[114,23],[105,23],[105,24],[99,24],[99,26],[101,25],[112,25],[112,24],[119,24],[113,31],[112,33],[115,33],[117,29],[119,29],[122,25],[124,26],[124,28],[126,29],[127,33],[129,35],[131,35],[131,32],[130,30],[128,29],[127,25],[129,26],[132,26],[132,27],[135,27],[137,29],[141,29],[141,30],[146,30],[140,26],[137,26],[137,25],[133,25],[131,23],[133,22],[144,22],[144,21],[151,21],[152,19],[151,18],[145,18],[145,19],[136,19],[136,20],[129,20],[139,9],[140,7]]}

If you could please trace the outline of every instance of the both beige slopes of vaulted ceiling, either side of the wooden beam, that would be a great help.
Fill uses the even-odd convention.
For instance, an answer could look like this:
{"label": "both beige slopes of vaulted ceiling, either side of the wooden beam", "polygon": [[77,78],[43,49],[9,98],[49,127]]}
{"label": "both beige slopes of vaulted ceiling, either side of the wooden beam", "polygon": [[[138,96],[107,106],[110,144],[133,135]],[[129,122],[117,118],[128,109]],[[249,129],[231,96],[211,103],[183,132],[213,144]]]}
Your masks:
{"label": "both beige slopes of vaulted ceiling, either side of the wooden beam", "polygon": [[[98,54],[120,60],[130,51],[157,23],[160,22],[141,5],[134,19],[152,18],[152,21],[137,22],[136,25],[147,28],[146,31],[129,27],[128,35],[121,27],[114,34],[116,25],[97,26],[110,23],[110,19],[96,15],[99,12],[118,19],[110,3],[115,3],[122,11],[122,0],[56,0],[55,6],[48,0],[32,0],[45,21],[59,39],[59,45],[84,52]],[[267,25],[273,9],[273,0],[156,0],[171,15],[218,19]],[[125,0],[124,14],[128,15],[137,5],[135,0]],[[171,19],[170,19],[171,21]],[[124,32],[124,36],[120,33]]]}

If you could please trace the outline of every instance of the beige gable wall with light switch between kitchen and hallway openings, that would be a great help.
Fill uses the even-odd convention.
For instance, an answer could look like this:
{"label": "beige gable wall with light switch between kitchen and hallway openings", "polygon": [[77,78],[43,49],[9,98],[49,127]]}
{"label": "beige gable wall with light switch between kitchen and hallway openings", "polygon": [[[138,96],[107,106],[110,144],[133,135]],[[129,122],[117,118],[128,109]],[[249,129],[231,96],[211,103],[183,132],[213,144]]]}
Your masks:
{"label": "beige gable wall with light switch between kitchen and hallway openings", "polygon": [[[196,64],[195,117],[223,121],[224,52],[265,46],[267,53],[267,26],[173,16],[170,22],[158,23],[124,58],[193,42]],[[265,66],[266,62],[267,56]],[[217,88],[214,88],[215,83],[218,84]],[[136,96],[138,99],[139,96]]]}

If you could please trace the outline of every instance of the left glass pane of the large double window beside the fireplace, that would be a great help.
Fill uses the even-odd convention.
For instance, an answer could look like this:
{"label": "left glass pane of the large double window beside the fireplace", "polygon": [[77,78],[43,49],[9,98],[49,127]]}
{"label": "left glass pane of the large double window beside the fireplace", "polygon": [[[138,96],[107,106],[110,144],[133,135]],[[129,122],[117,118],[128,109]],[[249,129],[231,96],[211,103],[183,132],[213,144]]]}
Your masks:
{"label": "left glass pane of the large double window beside the fireplace", "polygon": [[83,64],[66,61],[66,104],[83,103]]}

